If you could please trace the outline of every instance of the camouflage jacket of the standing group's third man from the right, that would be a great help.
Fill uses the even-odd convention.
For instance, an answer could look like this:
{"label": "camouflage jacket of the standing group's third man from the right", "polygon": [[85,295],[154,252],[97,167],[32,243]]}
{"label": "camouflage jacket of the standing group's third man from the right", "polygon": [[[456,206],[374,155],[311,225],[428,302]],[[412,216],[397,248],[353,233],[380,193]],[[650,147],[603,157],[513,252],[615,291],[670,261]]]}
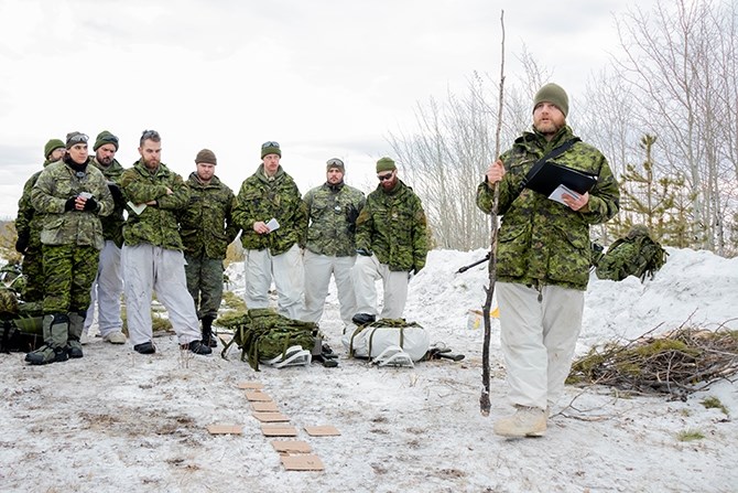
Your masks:
{"label": "camouflage jacket of the standing group's third man from the right", "polygon": [[[253,231],[253,223],[275,218],[280,227],[265,235]],[[236,197],[234,219],[241,232],[241,244],[248,250],[269,248],[272,255],[280,255],[295,243],[303,246],[307,227],[305,203],[292,176],[280,167],[272,179],[264,174],[261,164],[257,172],[247,178]]]}

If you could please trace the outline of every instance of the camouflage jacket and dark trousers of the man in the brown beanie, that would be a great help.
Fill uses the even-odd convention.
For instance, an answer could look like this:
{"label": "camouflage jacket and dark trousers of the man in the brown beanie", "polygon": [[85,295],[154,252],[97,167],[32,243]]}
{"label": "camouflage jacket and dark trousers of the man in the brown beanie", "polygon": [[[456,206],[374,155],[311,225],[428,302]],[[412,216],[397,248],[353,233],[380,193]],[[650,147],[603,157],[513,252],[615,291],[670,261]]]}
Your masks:
{"label": "camouflage jacket and dark trousers of the man in the brown beanie", "polygon": [[180,216],[180,235],[187,262],[187,289],[197,317],[215,320],[223,299],[223,260],[239,231],[231,216],[236,197],[215,175],[205,184],[193,172],[186,183],[189,205]]}

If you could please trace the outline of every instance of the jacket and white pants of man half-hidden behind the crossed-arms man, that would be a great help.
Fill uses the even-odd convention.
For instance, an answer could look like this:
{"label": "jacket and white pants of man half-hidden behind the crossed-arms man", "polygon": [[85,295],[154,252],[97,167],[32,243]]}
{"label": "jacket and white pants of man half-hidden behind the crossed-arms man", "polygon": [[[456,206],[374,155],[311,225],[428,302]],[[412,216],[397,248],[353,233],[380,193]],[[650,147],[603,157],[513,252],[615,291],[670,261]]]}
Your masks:
{"label": "jacket and white pants of man half-hidden behind the crossed-arms man", "polygon": [[107,167],[102,165],[95,157],[91,158],[91,164],[105,175],[115,206],[112,213],[102,218],[105,246],[100,251],[97,276],[90,289],[90,303],[85,318],[84,333],[87,333],[93,323],[95,306],[97,304],[98,326],[100,335],[105,337],[112,332],[122,331],[123,328],[123,320],[120,317],[120,297],[123,293],[120,249],[123,246],[126,201],[119,185],[123,167],[117,159],[113,159]]}

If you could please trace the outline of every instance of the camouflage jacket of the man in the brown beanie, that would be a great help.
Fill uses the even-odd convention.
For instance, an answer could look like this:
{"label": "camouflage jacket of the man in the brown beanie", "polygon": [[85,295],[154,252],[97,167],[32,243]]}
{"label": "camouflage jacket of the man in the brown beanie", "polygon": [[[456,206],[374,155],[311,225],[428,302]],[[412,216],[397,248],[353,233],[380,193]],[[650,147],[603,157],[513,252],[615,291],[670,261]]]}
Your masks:
{"label": "camouflage jacket of the man in the brown beanie", "polygon": [[187,255],[226,258],[228,245],[236,239],[238,226],[231,216],[234,191],[213,176],[204,184],[193,172],[186,181],[189,204],[180,212],[180,236]]}

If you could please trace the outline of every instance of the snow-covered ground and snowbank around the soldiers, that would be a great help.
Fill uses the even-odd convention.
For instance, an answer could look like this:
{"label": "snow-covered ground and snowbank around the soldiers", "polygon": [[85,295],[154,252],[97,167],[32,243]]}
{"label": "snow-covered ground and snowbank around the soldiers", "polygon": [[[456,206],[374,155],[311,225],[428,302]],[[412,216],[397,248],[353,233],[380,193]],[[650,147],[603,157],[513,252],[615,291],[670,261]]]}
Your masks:
{"label": "snow-covered ground and snowbank around the soldiers", "polygon": [[[593,344],[690,324],[738,330],[738,258],[669,249],[653,280],[593,277],[578,354]],[[95,339],[82,360],[28,366],[0,355],[2,492],[735,492],[738,386],[721,382],[686,401],[628,397],[606,387],[567,387],[547,435],[491,433],[509,414],[499,326],[492,323],[491,415],[479,412],[482,331],[467,328],[484,302],[484,251],[432,251],[405,310],[459,363],[379,368],[348,360],[332,291],[321,326],[337,368],[253,372],[219,355],[183,358],[171,335],[158,353]],[[242,267],[229,268],[242,292]],[[319,457],[322,472],[286,471],[260,431],[241,382],[259,382]],[[717,397],[729,410],[702,405]],[[211,436],[213,424],[242,435]],[[338,437],[304,427],[333,425]],[[680,441],[682,431],[705,438]]]}

